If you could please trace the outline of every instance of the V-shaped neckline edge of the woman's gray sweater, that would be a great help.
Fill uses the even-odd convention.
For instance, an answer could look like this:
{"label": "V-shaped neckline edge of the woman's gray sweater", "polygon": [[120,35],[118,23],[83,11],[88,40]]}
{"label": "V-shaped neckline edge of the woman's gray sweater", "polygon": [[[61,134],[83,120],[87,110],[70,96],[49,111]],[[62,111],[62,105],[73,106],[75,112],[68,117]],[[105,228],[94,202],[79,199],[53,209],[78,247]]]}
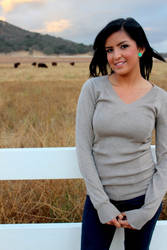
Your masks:
{"label": "V-shaped neckline edge of the woman's gray sweater", "polygon": [[155,85],[154,83],[151,83],[151,84],[152,84],[152,88],[151,88],[149,91],[147,91],[143,96],[139,97],[138,99],[136,99],[136,100],[133,101],[133,102],[126,103],[126,102],[124,102],[124,101],[120,98],[120,96],[119,96],[119,95],[116,93],[116,91],[114,90],[114,88],[113,88],[113,86],[112,86],[112,83],[111,83],[110,80],[109,80],[109,76],[108,76],[108,75],[106,76],[106,80],[107,80],[107,83],[108,83],[108,85],[110,86],[110,89],[112,90],[114,96],[115,96],[121,103],[123,103],[124,105],[127,105],[127,106],[134,105],[134,104],[136,104],[136,103],[138,103],[138,102],[142,102],[145,98],[147,98],[149,95],[152,94],[152,92],[154,91],[154,89],[156,89],[156,85]]}

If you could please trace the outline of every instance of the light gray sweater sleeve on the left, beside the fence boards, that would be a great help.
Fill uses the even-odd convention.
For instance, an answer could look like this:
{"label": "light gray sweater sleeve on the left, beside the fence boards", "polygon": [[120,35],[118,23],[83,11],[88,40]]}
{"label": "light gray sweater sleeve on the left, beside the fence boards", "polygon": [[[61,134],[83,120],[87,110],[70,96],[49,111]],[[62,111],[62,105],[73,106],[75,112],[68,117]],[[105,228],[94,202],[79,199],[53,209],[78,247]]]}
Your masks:
{"label": "light gray sweater sleeve on the left, beside the fence boards", "polygon": [[97,210],[101,223],[106,223],[120,214],[120,211],[110,202],[103,188],[92,153],[94,139],[92,119],[96,107],[96,97],[91,81],[89,79],[83,85],[78,99],[76,112],[76,152],[87,193]]}

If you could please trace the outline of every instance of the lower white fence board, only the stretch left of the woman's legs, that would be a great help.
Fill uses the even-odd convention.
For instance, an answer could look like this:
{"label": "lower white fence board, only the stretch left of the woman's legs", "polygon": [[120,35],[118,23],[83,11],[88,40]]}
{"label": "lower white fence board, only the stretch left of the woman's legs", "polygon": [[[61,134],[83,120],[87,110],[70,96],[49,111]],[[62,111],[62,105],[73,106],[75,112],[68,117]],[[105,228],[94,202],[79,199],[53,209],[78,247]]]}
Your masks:
{"label": "lower white fence board, only the stretch left of the woman's legs", "polygon": [[1,250],[79,250],[81,223],[0,226]]}

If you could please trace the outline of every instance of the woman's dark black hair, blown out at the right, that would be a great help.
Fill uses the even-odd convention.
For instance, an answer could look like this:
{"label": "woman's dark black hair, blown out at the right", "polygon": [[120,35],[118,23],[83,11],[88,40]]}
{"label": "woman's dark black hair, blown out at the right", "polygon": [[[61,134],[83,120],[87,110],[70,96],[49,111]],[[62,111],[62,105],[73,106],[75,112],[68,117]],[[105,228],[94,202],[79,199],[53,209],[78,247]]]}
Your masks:
{"label": "woman's dark black hair, blown out at the right", "polygon": [[[124,30],[136,42],[138,48],[145,48],[142,57],[140,57],[140,72],[148,80],[153,66],[153,57],[166,61],[157,51],[151,48],[143,28],[131,17],[113,20],[98,33],[93,45],[94,55],[89,65],[90,77],[108,74],[109,67],[105,42],[111,34],[119,30]],[[112,69],[110,69],[110,73],[112,73]]]}

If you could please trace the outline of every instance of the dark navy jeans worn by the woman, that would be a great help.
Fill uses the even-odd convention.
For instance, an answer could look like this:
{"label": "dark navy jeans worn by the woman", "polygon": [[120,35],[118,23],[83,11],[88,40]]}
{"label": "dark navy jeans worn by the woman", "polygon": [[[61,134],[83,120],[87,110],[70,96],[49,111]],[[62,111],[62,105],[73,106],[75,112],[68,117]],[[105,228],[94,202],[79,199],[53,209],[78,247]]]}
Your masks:
{"label": "dark navy jeans worn by the woman", "polygon": [[[119,211],[140,208],[144,204],[144,195],[126,201],[112,201]],[[162,210],[162,203],[154,217],[141,230],[125,229],[125,250],[149,250],[155,224]],[[86,197],[83,219],[81,250],[109,250],[115,226],[102,224],[89,196]]]}

